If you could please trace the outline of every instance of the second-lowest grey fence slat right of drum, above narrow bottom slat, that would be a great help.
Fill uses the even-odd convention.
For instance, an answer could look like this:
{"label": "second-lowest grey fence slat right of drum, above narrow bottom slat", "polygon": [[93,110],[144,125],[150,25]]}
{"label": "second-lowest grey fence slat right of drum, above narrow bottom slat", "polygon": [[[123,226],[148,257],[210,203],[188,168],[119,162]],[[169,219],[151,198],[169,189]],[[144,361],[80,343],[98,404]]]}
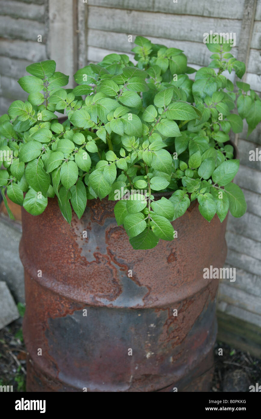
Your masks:
{"label": "second-lowest grey fence slat right of drum, above narrow bottom slat", "polygon": [[247,292],[222,282],[219,288],[219,300],[261,316],[260,297],[250,295]]}

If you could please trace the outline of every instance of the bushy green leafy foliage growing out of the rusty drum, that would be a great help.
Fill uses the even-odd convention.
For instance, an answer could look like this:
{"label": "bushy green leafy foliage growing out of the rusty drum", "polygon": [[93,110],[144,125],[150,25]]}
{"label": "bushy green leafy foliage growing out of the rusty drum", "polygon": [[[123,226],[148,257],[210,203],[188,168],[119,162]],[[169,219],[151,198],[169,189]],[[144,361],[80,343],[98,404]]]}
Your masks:
{"label": "bushy green leafy foliage growing out of the rusty drum", "polygon": [[[243,119],[253,131],[261,101],[247,83],[233,92],[222,72],[242,78],[245,65],[222,39],[207,44],[212,62],[198,71],[180,49],[142,36],[135,44],[136,65],[109,54],[78,70],[74,89],[64,87],[68,76],[55,71],[53,60],[27,67],[31,75],[18,83],[28,101],[14,101],[0,118],[0,156],[13,154],[0,170],[6,205],[5,192],[39,215],[56,195],[71,222],[72,208],[80,218],[87,199],[108,197],[117,201],[116,221],[134,249],[173,240],[171,222],[195,199],[209,222],[215,214],[222,222],[228,209],[244,214],[243,192],[231,183],[239,161],[227,142],[230,129],[242,131]],[[56,111],[66,116],[62,124]],[[165,197],[158,199],[158,191]]]}

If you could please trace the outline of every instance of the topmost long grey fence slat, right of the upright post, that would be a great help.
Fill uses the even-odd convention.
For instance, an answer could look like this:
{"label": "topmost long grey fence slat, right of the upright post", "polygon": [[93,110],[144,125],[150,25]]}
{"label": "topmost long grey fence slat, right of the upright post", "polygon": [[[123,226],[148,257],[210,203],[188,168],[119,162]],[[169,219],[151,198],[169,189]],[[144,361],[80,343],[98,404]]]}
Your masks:
{"label": "topmost long grey fence slat, right of the upright post", "polygon": [[201,0],[182,0],[173,3],[170,0],[89,0],[89,5],[103,6],[128,10],[144,10],[147,12],[163,12],[170,14],[186,14],[211,16],[219,18],[241,19],[243,15],[243,1],[220,0],[219,2],[202,2]]}

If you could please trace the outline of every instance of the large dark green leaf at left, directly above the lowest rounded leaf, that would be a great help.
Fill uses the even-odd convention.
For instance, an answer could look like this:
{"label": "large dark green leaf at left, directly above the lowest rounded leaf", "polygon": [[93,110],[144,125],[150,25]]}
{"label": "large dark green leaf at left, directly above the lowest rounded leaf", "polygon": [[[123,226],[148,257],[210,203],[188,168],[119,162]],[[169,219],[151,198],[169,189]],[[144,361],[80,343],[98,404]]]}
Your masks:
{"label": "large dark green leaf at left, directly above the lowest rounded leaf", "polygon": [[43,161],[41,159],[30,161],[26,166],[25,175],[28,184],[36,192],[40,191],[46,196],[50,185],[50,176],[44,170]]}

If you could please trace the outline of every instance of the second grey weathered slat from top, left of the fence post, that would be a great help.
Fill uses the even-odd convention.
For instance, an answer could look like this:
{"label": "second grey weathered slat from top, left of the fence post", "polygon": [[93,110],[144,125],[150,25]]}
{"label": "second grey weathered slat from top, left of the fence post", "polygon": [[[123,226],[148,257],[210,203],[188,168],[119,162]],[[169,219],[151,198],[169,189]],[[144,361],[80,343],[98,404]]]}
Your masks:
{"label": "second grey weathered slat from top, left of the fence post", "polygon": [[0,16],[0,37],[23,39],[37,42],[37,36],[42,36],[44,42],[44,23],[30,21],[29,19],[13,19],[9,16]]}

